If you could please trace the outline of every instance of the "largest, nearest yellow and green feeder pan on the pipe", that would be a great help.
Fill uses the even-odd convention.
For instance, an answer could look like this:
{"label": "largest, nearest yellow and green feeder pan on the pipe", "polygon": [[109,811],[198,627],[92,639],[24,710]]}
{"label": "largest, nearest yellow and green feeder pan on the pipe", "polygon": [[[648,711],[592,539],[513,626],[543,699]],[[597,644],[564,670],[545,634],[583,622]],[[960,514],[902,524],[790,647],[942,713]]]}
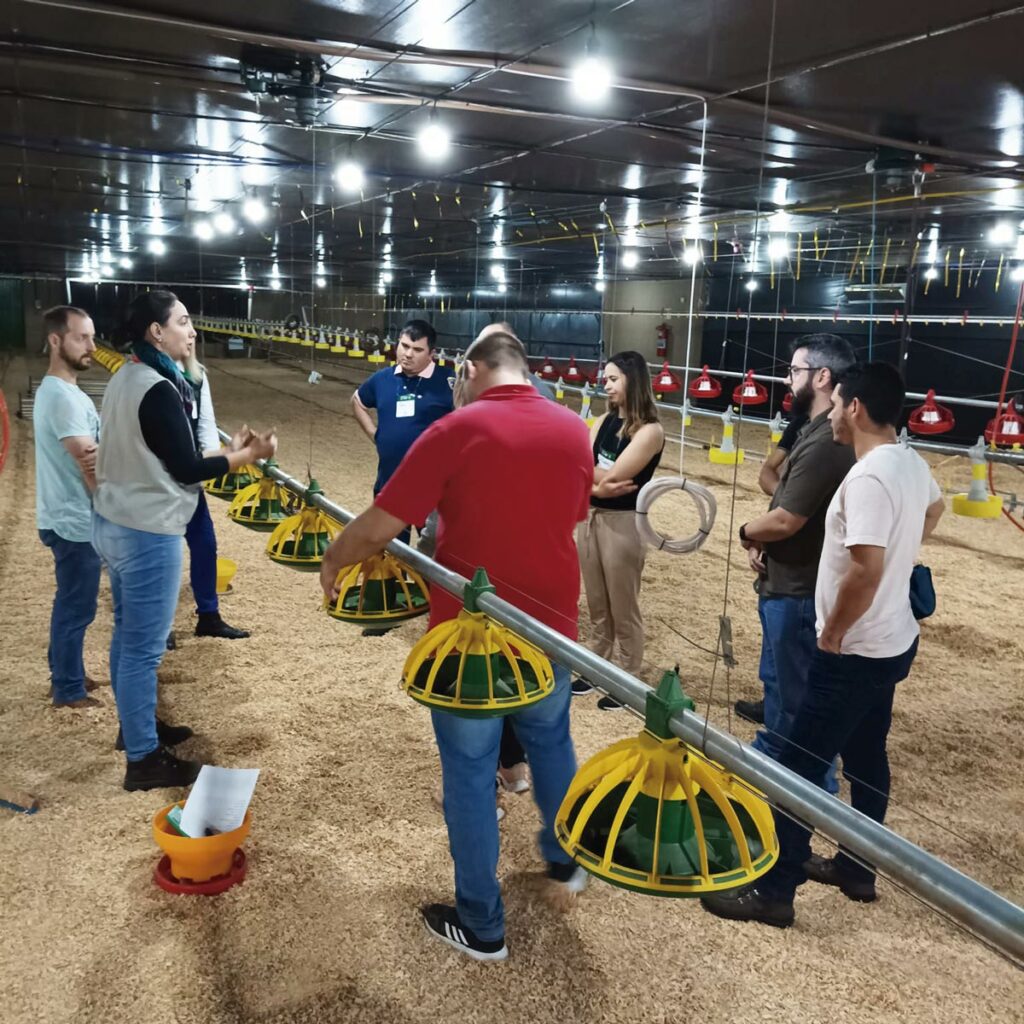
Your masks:
{"label": "largest, nearest yellow and green feeder pan on the pipe", "polygon": [[705,896],[748,885],[778,857],[764,799],[672,734],[684,708],[693,701],[667,672],[647,695],[644,731],[592,757],[555,818],[562,849],[620,888]]}

